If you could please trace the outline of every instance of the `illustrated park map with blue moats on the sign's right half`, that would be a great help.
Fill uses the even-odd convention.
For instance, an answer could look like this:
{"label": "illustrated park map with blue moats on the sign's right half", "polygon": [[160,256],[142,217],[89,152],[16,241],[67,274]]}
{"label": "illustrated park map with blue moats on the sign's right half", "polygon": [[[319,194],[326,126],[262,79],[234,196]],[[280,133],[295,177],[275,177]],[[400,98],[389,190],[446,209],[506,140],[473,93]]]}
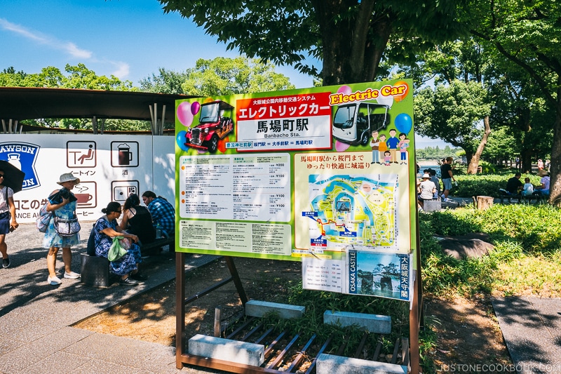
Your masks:
{"label": "illustrated park map with blue moats on the sign's right half", "polygon": [[310,247],[313,252],[345,248],[395,248],[397,175],[309,175]]}

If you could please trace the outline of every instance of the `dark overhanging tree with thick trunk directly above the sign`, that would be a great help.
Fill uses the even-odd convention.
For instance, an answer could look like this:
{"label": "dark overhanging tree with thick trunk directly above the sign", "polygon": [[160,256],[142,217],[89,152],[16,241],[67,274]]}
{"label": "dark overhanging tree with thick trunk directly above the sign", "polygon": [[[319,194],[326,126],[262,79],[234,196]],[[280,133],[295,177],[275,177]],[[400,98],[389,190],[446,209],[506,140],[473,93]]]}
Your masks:
{"label": "dark overhanging tree with thick trunk directly above the sign", "polygon": [[381,60],[413,62],[417,51],[467,31],[458,17],[467,0],[158,1],[228,49],[294,66],[324,85],[373,81]]}

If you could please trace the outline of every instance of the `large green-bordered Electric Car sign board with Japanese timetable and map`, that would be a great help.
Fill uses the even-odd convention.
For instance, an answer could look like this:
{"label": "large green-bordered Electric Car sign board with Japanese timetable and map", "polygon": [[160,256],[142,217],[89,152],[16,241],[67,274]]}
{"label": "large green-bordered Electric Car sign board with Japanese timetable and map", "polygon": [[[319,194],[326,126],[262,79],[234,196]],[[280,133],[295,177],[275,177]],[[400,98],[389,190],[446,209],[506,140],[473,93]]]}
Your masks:
{"label": "large green-bordered Electric Car sign board with Japanese timetable and map", "polygon": [[349,253],[416,250],[412,80],[177,100],[175,111],[177,251],[346,269]]}

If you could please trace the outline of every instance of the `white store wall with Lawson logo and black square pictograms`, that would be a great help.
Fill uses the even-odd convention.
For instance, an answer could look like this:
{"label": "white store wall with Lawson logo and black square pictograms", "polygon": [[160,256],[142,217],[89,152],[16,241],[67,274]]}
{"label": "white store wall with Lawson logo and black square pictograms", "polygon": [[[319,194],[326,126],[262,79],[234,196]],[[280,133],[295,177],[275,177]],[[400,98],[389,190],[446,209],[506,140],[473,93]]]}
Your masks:
{"label": "white store wall with Lawson logo and black square pictograms", "polygon": [[97,220],[109,201],[124,203],[133,192],[175,201],[173,136],[2,134],[0,160],[25,172],[24,189],[14,195],[20,223],[35,222],[62,173],[81,180],[73,190],[79,220]]}

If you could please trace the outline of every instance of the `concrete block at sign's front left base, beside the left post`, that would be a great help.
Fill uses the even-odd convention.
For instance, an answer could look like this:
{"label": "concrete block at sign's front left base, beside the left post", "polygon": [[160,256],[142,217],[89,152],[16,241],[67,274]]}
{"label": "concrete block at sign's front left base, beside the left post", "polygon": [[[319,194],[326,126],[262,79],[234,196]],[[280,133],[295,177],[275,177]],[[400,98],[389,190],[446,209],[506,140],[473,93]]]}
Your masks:
{"label": "concrete block at sign's front left base, beside the left post", "polygon": [[189,354],[261,366],[265,361],[265,346],[197,334],[189,339]]}

